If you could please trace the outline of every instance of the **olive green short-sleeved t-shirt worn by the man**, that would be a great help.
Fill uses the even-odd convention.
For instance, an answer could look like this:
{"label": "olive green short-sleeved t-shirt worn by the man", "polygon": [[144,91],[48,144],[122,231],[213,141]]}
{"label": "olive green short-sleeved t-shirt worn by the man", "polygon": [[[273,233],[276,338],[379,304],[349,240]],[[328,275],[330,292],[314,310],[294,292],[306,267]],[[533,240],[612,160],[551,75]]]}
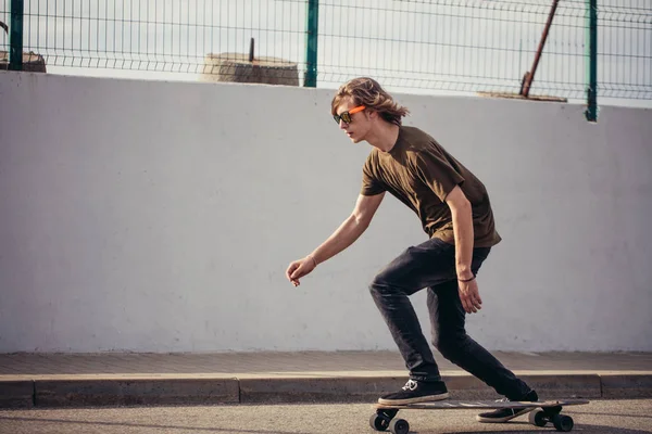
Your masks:
{"label": "olive green short-sleeved t-shirt worn by the man", "polygon": [[372,150],[363,167],[361,194],[389,192],[417,214],[430,238],[454,244],[451,210],[444,201],[455,186],[472,205],[475,247],[498,244],[501,238],[482,182],[418,128],[401,126],[389,152]]}

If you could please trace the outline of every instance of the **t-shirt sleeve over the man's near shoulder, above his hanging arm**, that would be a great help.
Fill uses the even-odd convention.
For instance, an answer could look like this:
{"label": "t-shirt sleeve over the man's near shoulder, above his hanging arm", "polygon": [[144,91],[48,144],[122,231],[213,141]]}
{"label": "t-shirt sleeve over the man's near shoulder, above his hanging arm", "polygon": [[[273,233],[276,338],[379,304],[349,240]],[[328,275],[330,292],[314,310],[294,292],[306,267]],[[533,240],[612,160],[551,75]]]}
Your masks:
{"label": "t-shirt sleeve over the man's near shoulder, above his hanging arm", "polygon": [[441,202],[455,186],[464,182],[464,177],[436,150],[418,152],[414,161],[416,176],[432,189]]}

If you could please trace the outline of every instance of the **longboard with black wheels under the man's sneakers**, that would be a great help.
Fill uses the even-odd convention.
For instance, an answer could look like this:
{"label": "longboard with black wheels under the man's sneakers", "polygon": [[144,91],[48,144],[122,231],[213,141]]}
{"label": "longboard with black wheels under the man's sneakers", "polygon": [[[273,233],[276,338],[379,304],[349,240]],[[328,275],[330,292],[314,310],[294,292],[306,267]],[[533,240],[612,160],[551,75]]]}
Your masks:
{"label": "longboard with black wheels under the man's sneakers", "polygon": [[[428,403],[406,405],[376,404],[376,412],[369,419],[371,426],[376,431],[389,430],[392,434],[408,434],[410,424],[403,419],[394,419],[399,410],[460,410],[460,409],[501,409],[501,408],[527,408],[529,422],[537,426],[546,426],[549,422],[557,431],[567,432],[573,430],[573,418],[562,414],[565,406],[578,406],[589,404],[586,399],[557,399],[544,401],[494,401],[494,400],[437,400]],[[537,410],[540,409],[540,410]],[[534,411],[536,410],[536,411]]]}

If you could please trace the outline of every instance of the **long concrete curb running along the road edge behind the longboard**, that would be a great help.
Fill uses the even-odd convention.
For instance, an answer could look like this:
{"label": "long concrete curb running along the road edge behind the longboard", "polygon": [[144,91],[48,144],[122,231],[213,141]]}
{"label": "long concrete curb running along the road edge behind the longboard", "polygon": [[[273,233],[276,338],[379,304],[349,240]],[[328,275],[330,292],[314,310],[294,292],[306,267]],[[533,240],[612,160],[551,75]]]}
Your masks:
{"label": "long concrete curb running along the road edge behind the longboard", "polygon": [[[652,398],[652,374],[521,375],[543,398]],[[0,381],[0,408],[100,406],[374,403],[405,376],[255,376],[18,379]],[[497,399],[471,375],[443,375],[454,399]]]}

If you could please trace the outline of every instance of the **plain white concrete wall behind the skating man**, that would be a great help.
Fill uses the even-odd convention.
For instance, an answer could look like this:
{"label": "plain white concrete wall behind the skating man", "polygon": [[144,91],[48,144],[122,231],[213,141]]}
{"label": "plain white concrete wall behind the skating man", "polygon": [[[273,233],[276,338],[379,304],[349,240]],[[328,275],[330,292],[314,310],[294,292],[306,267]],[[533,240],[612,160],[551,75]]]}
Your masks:
{"label": "plain white concrete wall behind the skating man", "polygon": [[[367,284],[426,239],[393,197],[301,286],[284,277],[350,213],[369,151],[330,98],[0,74],[0,352],[393,349]],[[494,204],[477,341],[652,350],[651,111],[398,98]]]}

